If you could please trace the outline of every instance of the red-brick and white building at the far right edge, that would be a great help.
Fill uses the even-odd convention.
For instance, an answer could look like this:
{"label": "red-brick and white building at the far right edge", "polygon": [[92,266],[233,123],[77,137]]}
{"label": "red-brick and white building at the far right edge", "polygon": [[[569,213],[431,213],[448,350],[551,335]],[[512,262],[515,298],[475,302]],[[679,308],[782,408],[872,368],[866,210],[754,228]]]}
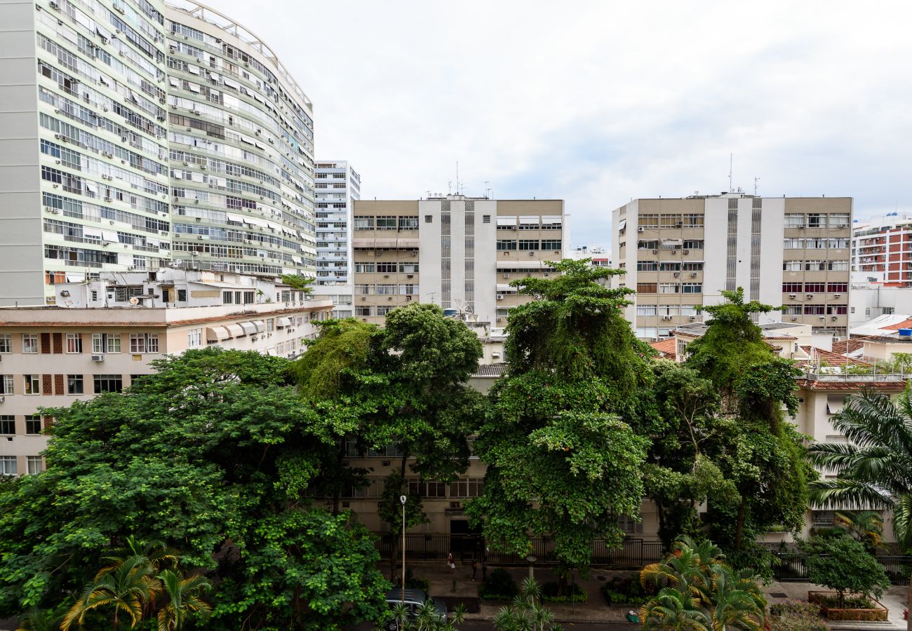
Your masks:
{"label": "red-brick and white building at the far right edge", "polygon": [[912,287],[912,213],[890,212],[852,229],[852,280]]}

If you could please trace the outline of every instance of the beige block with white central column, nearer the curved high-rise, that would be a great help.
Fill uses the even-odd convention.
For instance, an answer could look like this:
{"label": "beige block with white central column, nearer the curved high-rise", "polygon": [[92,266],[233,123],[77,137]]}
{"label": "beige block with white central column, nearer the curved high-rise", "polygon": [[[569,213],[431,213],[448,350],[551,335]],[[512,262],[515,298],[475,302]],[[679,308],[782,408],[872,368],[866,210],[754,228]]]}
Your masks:
{"label": "beige block with white central column, nearer the curved high-rise", "polygon": [[564,257],[562,200],[447,195],[355,202],[354,214],[355,315],[365,322],[419,301],[503,327],[529,300],[510,281],[553,274],[545,262]]}

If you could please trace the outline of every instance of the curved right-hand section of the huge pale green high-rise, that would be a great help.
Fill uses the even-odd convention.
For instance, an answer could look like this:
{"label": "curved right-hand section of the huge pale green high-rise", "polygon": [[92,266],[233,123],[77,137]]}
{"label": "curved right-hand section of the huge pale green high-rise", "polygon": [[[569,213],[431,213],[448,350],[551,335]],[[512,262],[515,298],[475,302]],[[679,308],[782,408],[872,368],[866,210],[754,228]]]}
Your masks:
{"label": "curved right-hand section of the huge pale green high-rise", "polygon": [[185,1],[165,16],[173,257],[315,275],[310,99],[230,18]]}

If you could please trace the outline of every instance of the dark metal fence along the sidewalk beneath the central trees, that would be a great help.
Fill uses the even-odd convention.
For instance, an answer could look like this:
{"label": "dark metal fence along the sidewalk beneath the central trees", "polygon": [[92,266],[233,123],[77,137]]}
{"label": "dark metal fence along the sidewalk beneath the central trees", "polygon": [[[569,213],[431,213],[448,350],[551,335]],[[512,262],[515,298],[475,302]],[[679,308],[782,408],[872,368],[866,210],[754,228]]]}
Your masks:
{"label": "dark metal fence along the sidewalk beneath the central trees", "polygon": [[[377,549],[380,557],[389,559],[399,551],[400,535],[380,534]],[[533,537],[530,554],[535,557],[535,564],[556,564],[554,556],[554,539],[551,537]],[[503,553],[496,550],[485,552],[486,544],[481,535],[476,534],[406,534],[406,558],[409,561],[442,561],[447,554],[462,561],[471,561],[472,557],[481,558],[487,555],[488,563],[494,565],[523,565],[525,555]],[[646,542],[642,539],[625,539],[620,546],[610,545],[601,539],[592,543],[592,564],[608,565],[617,568],[640,568],[643,565],[656,563],[663,556],[660,542]]]}

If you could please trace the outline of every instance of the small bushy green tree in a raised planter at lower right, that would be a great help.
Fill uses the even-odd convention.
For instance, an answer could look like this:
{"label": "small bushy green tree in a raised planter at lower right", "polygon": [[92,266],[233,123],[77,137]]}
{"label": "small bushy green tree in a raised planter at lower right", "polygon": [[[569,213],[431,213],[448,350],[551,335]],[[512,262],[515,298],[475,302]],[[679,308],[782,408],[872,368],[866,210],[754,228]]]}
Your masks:
{"label": "small bushy green tree in a raised planter at lower right", "polygon": [[883,565],[851,537],[811,537],[800,541],[799,548],[806,554],[808,580],[834,589],[840,607],[846,593],[879,598],[890,586]]}

